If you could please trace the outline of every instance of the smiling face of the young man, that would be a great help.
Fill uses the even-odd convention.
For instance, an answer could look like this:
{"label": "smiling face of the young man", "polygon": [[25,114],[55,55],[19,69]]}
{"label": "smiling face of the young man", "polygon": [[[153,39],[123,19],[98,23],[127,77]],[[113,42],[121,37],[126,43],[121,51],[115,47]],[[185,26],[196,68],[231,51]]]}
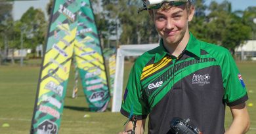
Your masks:
{"label": "smiling face of the young man", "polygon": [[185,33],[189,34],[188,21],[192,20],[194,8],[188,13],[186,5],[181,5],[164,10],[153,10],[152,13],[156,30],[165,44],[179,44]]}

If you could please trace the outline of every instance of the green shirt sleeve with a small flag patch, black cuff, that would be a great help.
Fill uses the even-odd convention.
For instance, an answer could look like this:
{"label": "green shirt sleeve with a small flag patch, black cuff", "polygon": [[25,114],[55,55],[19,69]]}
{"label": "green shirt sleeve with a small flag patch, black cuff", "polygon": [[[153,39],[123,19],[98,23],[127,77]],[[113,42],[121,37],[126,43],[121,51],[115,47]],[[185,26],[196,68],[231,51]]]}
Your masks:
{"label": "green shirt sleeve with a small flag patch, black cuff", "polygon": [[223,99],[226,102],[226,105],[232,107],[247,101],[248,96],[244,80],[228,50],[223,56],[222,75],[224,86]]}

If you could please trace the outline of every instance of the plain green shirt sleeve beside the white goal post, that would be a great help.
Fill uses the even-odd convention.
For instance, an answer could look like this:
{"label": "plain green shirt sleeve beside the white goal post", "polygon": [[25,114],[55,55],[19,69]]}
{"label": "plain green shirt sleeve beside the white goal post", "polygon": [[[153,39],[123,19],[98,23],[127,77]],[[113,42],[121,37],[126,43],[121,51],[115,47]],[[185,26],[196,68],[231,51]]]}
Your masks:
{"label": "plain green shirt sleeve beside the white goal post", "polygon": [[141,99],[141,72],[142,69],[135,62],[129,75],[120,110],[121,114],[127,118],[131,118],[130,115],[137,115],[138,120],[145,119],[148,115],[148,108]]}

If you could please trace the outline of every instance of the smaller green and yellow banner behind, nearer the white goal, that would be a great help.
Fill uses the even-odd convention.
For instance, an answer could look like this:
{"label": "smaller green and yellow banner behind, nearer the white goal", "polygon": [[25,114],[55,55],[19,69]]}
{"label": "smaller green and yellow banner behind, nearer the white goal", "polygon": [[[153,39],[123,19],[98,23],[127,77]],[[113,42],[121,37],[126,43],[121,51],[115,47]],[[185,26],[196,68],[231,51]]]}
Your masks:
{"label": "smaller green and yellow banner behind, nearer the white goal", "polygon": [[106,67],[91,2],[84,0],[77,17],[75,59],[91,111],[104,111],[110,101]]}

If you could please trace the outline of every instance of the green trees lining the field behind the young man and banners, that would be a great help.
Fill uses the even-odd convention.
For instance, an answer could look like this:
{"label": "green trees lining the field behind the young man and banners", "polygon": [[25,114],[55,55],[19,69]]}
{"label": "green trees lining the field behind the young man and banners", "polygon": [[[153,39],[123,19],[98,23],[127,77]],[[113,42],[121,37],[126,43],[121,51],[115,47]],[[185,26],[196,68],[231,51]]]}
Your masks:
{"label": "green trees lining the field behind the young man and banners", "polygon": [[[93,0],[93,5],[102,7],[95,11],[98,33],[104,42],[110,37],[117,39],[117,44],[144,44],[158,42],[158,33],[147,11],[137,13],[142,7],[141,0]],[[190,31],[200,40],[234,49],[249,39],[256,39],[256,7],[232,12],[231,3],[211,2],[205,5],[205,0],[194,1],[196,12],[189,22]],[[46,10],[51,13],[53,0]],[[96,10],[94,8],[94,10]],[[0,5],[0,50],[3,48],[4,35],[8,36],[11,47],[19,48],[20,33],[24,32],[25,45],[35,48],[44,44],[47,33],[47,22],[41,10],[29,8],[22,18],[16,22],[11,16],[12,5],[1,0]],[[254,20],[254,22],[253,22]],[[112,44],[116,46],[116,44]]]}

